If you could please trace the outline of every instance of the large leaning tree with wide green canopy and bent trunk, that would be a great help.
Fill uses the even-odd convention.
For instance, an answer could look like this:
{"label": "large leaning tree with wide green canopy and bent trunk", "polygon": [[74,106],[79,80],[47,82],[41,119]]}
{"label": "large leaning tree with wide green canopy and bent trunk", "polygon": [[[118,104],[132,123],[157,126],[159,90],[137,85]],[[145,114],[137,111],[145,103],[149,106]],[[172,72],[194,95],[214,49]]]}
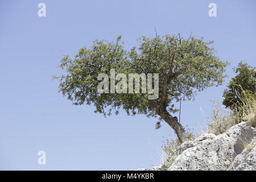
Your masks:
{"label": "large leaning tree with wide green canopy and bent trunk", "polygon": [[[184,127],[172,115],[177,111],[174,103],[192,100],[197,91],[224,81],[227,61],[221,61],[214,55],[213,42],[180,35],[138,39],[138,48],[125,51],[121,36],[116,42],[95,40],[92,47],[81,48],[74,59],[64,56],[59,67],[67,75],[57,76],[60,80],[60,92],[75,105],[94,104],[95,113],[105,116],[118,114],[120,109],[128,115],[146,114],[147,117],[159,117],[175,130],[182,143],[187,140]],[[148,93],[98,93],[97,85],[100,73],[159,73],[159,97],[148,100]]]}

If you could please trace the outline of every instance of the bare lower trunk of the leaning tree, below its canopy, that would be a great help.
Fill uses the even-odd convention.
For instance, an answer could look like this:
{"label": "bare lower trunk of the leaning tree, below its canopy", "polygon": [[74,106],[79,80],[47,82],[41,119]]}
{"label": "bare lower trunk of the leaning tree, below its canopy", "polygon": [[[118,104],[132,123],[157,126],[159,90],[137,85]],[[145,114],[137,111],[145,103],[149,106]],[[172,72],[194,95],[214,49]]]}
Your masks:
{"label": "bare lower trunk of the leaning tree, below its canopy", "polygon": [[188,140],[183,126],[177,121],[177,117],[172,117],[172,115],[169,114],[168,111],[159,113],[159,115],[161,118],[163,118],[165,122],[168,123],[169,126],[172,127],[172,129],[174,129],[180,143]]}

